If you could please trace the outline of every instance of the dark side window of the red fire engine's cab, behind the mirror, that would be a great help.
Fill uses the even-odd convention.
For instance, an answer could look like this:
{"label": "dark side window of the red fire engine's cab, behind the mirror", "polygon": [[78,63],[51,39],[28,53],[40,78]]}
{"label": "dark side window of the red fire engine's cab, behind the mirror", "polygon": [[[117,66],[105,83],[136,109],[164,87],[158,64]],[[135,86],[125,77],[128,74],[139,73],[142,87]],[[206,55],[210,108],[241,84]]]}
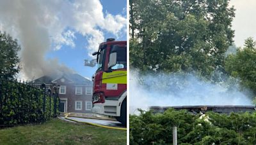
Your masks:
{"label": "dark side window of the red fire engine's cab, behind the mirror", "polygon": [[116,52],[116,65],[111,69],[126,69],[127,68],[127,52],[126,46],[113,45],[111,53]]}

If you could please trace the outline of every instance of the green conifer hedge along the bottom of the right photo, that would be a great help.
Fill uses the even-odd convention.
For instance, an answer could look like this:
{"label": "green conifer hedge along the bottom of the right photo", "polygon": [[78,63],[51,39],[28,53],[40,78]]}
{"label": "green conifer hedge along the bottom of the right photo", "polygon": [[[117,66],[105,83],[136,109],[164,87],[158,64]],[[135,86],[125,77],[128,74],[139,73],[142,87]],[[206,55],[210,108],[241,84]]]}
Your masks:
{"label": "green conifer hedge along the bottom of the right photo", "polygon": [[130,115],[131,144],[171,144],[177,126],[178,144],[255,144],[256,113],[205,116],[168,109],[163,114]]}

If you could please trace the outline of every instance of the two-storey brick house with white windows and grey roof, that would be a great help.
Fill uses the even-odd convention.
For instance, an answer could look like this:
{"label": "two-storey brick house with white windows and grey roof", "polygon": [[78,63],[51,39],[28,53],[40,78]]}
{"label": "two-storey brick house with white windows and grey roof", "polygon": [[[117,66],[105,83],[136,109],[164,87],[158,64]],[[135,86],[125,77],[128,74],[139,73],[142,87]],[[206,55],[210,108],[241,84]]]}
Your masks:
{"label": "two-storey brick house with white windows and grey roof", "polygon": [[38,87],[45,83],[47,89],[52,85],[60,85],[60,111],[68,113],[91,113],[92,85],[89,79],[79,74],[64,74],[57,78],[42,76],[32,83]]}

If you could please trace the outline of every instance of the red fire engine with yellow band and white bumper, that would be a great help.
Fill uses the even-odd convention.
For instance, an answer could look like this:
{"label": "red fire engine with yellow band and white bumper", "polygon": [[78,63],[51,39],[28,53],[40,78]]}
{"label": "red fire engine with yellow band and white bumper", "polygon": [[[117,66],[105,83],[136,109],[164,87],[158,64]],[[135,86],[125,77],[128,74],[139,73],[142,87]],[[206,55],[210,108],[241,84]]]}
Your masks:
{"label": "red fire engine with yellow band and white bumper", "polygon": [[97,71],[93,76],[92,112],[115,116],[124,125],[127,119],[126,45],[126,41],[109,38],[93,53],[97,56]]}

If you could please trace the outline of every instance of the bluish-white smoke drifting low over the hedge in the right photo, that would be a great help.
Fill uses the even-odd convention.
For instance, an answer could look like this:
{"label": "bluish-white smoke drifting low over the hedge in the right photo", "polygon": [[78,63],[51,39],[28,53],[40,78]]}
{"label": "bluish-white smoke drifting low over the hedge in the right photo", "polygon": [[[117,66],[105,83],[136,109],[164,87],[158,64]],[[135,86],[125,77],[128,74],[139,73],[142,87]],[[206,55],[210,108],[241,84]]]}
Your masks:
{"label": "bluish-white smoke drifting low over the hedge in the right photo", "polygon": [[252,105],[249,93],[231,82],[211,83],[193,74],[139,75],[130,71],[130,114],[150,106]]}

